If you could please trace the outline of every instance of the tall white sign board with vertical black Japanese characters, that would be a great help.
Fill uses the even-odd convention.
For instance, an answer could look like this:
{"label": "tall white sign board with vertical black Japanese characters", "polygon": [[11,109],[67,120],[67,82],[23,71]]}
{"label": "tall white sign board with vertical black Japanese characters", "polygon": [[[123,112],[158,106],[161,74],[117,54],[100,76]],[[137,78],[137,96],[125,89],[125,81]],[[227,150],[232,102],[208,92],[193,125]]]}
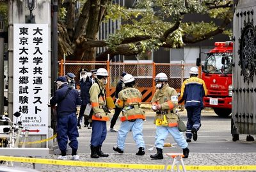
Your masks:
{"label": "tall white sign board with vertical black Japanese characters", "polygon": [[47,134],[48,61],[48,24],[13,24],[13,121],[29,134]]}

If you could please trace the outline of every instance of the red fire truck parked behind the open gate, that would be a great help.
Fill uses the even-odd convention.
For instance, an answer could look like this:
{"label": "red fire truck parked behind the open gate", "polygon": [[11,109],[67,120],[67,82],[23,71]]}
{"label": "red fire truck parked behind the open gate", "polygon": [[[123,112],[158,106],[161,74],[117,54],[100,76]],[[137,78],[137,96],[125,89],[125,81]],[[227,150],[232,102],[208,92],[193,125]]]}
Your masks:
{"label": "red fire truck parked behind the open gate", "polygon": [[[232,110],[233,42],[215,42],[214,45],[202,65],[202,79],[208,90],[204,107],[212,107],[218,116],[227,117]],[[196,65],[201,65],[201,58],[196,59]]]}

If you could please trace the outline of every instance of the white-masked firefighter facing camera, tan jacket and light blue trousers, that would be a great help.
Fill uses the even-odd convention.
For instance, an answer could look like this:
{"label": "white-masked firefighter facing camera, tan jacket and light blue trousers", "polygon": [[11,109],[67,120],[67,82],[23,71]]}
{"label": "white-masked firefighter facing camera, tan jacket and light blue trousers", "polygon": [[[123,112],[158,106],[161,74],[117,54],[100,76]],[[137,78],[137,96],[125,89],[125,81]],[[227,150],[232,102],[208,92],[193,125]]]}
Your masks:
{"label": "white-masked firefighter facing camera, tan jacket and light blue trousers", "polygon": [[156,75],[157,90],[151,102],[152,109],[156,111],[154,124],[157,125],[155,142],[157,153],[150,155],[150,157],[152,159],[163,159],[164,140],[170,133],[177,145],[183,149],[184,158],[188,158],[188,143],[177,127],[179,119],[175,109],[178,105],[177,92],[167,82],[168,77],[166,74],[159,73]]}

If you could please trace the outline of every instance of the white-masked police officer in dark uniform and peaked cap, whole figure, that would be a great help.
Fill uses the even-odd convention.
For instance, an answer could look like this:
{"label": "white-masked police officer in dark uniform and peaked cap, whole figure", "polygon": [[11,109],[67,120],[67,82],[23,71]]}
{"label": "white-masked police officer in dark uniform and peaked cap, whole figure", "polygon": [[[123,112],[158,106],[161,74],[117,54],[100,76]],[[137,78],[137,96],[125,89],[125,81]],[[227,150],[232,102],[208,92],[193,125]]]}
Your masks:
{"label": "white-masked police officer in dark uniform and peaked cap, whole figure", "polygon": [[[81,79],[79,81],[79,84],[82,105],[80,107],[79,116],[77,118],[77,127],[79,127],[79,129],[81,129],[81,121],[83,120],[85,108],[87,104],[90,104],[89,90],[92,86],[92,79],[88,77],[87,72],[88,70],[86,68],[81,68],[80,70]],[[84,127],[92,129],[92,123],[89,123],[89,116],[84,116]]]}

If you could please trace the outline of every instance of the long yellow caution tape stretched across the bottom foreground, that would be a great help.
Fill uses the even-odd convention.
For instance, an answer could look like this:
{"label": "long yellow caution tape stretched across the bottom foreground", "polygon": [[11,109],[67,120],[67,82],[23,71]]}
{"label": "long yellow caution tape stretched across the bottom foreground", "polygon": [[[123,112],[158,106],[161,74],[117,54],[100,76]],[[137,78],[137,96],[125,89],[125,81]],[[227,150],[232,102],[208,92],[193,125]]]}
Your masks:
{"label": "long yellow caution tape stretched across the bottom foreground", "polygon": [[[86,162],[77,160],[56,160],[56,159],[36,159],[26,157],[6,157],[0,156],[0,160],[13,162],[26,162],[38,164],[52,164],[62,166],[83,166],[92,168],[121,168],[121,169],[164,169],[164,165],[160,164],[117,164],[110,162]],[[168,165],[167,169],[172,166]],[[246,171],[256,170],[256,166],[185,166],[186,170],[190,171]],[[176,169],[176,167],[175,167]],[[180,166],[180,169],[182,167]]]}

